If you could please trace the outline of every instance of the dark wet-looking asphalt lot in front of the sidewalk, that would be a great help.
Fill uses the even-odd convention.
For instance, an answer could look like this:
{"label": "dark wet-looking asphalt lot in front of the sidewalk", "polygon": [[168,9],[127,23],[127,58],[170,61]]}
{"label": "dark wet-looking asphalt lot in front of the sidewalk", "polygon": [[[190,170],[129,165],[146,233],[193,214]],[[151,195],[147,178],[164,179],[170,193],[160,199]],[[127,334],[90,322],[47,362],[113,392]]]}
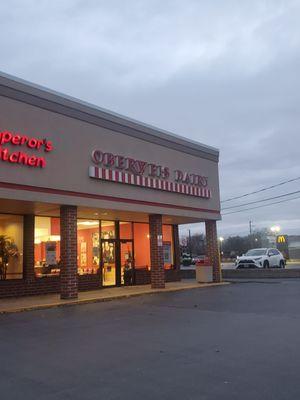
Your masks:
{"label": "dark wet-looking asphalt lot in front of the sidewalk", "polygon": [[300,280],[0,315],[3,400],[300,398]]}

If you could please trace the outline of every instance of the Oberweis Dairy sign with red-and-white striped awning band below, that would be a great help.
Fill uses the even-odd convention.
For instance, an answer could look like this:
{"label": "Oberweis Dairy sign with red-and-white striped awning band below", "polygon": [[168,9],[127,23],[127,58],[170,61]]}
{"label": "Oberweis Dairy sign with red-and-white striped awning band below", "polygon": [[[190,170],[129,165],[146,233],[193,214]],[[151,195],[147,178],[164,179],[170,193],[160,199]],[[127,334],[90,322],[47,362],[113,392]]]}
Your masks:
{"label": "Oberweis Dairy sign with red-and-white striped awning band below", "polygon": [[211,190],[207,178],[176,169],[136,160],[130,157],[94,150],[94,165],[89,168],[91,178],[165,190],[209,199]]}

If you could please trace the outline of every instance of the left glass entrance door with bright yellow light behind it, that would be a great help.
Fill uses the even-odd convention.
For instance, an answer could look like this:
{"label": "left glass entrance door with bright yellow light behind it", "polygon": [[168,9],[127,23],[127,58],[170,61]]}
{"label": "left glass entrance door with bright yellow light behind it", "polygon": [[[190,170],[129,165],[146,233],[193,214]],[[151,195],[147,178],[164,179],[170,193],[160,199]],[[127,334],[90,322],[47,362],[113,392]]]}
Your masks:
{"label": "left glass entrance door with bright yellow light behind it", "polygon": [[116,243],[114,241],[101,241],[101,265],[103,286],[116,285]]}

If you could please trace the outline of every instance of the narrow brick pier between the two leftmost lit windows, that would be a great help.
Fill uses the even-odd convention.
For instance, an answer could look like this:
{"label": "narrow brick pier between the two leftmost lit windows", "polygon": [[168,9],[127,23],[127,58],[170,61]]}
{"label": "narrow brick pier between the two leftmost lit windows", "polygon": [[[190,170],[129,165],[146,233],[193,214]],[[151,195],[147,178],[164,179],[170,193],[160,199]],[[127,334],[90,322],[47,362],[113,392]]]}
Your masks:
{"label": "narrow brick pier between the two leftmost lit windows", "polygon": [[35,279],[34,275],[34,215],[23,217],[23,278],[27,282]]}

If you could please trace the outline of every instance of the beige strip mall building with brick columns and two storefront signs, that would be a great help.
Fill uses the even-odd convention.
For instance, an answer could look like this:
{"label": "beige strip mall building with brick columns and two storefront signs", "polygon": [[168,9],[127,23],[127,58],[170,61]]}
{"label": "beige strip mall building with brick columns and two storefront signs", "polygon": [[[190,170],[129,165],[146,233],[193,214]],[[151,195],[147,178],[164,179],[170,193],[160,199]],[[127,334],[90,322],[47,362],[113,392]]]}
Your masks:
{"label": "beige strip mall building with brick columns and two storefront signs", "polygon": [[180,279],[204,222],[221,279],[216,149],[0,75],[0,297]]}

